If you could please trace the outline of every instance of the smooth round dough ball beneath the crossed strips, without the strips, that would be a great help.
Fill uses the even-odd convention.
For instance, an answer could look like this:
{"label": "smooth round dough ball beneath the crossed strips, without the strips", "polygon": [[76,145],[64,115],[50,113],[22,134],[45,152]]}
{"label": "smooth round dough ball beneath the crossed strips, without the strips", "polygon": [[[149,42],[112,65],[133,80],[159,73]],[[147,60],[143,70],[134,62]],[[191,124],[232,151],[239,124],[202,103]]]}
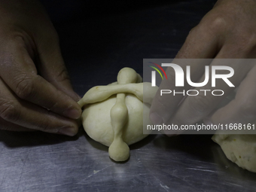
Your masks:
{"label": "smooth round dough ball beneath the crossed strips, without the strips", "polygon": [[[131,145],[148,136],[143,134],[143,121],[145,126],[150,123],[148,117],[150,107],[130,93],[126,93],[125,101],[129,116],[123,127],[123,142]],[[103,102],[85,105],[82,113],[84,130],[88,136],[108,147],[114,140],[110,111],[115,102],[116,95],[113,95]],[[143,110],[144,114],[147,114],[145,117],[143,117]]]}

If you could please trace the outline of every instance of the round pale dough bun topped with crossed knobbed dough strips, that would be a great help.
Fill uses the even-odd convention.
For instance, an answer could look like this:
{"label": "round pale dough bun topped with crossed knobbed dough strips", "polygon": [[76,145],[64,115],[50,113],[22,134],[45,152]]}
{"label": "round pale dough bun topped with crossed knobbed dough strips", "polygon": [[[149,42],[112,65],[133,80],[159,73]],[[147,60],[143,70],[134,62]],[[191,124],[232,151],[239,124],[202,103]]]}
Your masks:
{"label": "round pale dough bun topped with crossed knobbed dough strips", "polygon": [[117,82],[91,88],[78,102],[84,106],[84,130],[90,138],[109,147],[111,159],[127,160],[130,157],[128,145],[147,136],[143,134],[143,121],[145,125],[151,123],[145,114],[149,114],[157,89],[150,83],[142,83],[133,69],[123,68],[117,75]]}

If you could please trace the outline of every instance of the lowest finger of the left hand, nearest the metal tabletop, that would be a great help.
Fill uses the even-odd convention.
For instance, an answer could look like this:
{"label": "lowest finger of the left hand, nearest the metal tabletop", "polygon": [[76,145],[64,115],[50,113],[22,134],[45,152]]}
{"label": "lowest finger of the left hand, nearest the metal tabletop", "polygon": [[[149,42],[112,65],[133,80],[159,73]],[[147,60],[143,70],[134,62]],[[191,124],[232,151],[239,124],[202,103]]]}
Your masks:
{"label": "lowest finger of the left hand, nearest the metal tabletop", "polygon": [[78,123],[75,120],[61,117],[45,108],[17,98],[3,81],[0,81],[0,95],[0,117],[5,121],[48,133],[74,136],[78,132]]}

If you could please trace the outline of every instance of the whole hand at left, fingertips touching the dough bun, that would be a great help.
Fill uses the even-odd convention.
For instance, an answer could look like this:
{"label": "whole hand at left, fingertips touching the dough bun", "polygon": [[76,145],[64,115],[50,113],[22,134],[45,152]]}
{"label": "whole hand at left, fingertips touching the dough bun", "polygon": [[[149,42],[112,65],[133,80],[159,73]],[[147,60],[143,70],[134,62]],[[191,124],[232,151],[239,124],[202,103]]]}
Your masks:
{"label": "whole hand at left, fingertips touching the dough bun", "polygon": [[2,0],[0,14],[0,129],[74,136],[80,98],[46,11],[36,0]]}

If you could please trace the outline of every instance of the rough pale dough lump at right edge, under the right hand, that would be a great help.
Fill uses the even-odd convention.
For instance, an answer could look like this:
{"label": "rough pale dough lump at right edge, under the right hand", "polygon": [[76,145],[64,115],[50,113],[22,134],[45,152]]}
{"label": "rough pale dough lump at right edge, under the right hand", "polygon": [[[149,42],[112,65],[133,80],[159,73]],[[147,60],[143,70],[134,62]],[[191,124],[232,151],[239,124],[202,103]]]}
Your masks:
{"label": "rough pale dough lump at right edge, under the right hand", "polygon": [[226,157],[243,169],[256,172],[256,136],[215,134],[212,140],[221,145]]}

